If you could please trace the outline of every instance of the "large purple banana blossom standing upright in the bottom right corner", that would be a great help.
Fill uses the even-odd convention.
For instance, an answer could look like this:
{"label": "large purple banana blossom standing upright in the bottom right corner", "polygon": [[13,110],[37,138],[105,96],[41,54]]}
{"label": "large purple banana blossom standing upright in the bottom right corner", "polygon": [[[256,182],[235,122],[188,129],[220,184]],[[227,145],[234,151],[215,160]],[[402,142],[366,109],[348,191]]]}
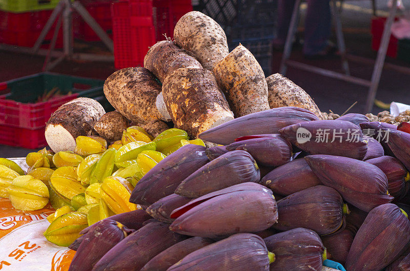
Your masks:
{"label": "large purple banana blossom standing upright in the bottom right corner", "polygon": [[368,213],[347,255],[347,271],[381,270],[400,255],[410,241],[410,221],[395,204]]}

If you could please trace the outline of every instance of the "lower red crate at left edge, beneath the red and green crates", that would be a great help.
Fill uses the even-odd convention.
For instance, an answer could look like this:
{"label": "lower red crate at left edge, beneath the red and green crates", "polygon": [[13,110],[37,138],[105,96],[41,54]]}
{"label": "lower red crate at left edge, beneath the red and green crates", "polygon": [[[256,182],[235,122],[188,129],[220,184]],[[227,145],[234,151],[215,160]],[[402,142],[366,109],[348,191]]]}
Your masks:
{"label": "lower red crate at left edge, beneath the red and green crates", "polygon": [[0,142],[5,145],[37,149],[46,147],[47,141],[44,137],[45,127],[30,130],[19,127],[10,127],[0,124]]}

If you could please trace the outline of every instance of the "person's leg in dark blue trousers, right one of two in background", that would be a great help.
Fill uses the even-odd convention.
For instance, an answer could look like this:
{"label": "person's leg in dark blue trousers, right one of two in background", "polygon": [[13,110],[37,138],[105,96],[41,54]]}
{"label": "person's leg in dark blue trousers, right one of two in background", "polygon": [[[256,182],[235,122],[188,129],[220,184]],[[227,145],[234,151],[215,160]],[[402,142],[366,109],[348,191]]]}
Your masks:
{"label": "person's leg in dark blue trousers, right one of two in background", "polygon": [[305,55],[323,53],[331,35],[331,10],[329,0],[308,0],[306,11],[304,46]]}

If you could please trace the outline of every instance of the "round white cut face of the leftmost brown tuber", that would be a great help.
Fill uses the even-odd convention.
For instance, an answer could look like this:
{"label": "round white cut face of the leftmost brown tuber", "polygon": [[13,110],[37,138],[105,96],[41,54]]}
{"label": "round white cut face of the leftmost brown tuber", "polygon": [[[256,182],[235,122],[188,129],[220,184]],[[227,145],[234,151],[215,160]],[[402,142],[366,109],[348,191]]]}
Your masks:
{"label": "round white cut face of the leftmost brown tuber", "polygon": [[50,146],[53,152],[57,153],[60,151],[72,151],[75,149],[75,139],[63,126],[60,124],[53,125],[49,124],[46,127],[47,144]]}

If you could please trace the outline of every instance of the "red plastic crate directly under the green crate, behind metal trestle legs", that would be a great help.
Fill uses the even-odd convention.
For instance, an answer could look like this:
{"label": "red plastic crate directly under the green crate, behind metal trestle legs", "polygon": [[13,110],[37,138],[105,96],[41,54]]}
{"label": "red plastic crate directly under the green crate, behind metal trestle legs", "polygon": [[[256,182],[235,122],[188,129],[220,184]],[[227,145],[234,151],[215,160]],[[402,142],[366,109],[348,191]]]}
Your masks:
{"label": "red plastic crate directly under the green crate, behind metal trestle legs", "polygon": [[[0,11],[0,43],[33,47],[51,12],[50,10],[24,13]],[[54,29],[55,26],[47,34],[43,47],[47,48],[49,46]],[[63,47],[63,28],[60,28],[58,32],[55,47]]]}

